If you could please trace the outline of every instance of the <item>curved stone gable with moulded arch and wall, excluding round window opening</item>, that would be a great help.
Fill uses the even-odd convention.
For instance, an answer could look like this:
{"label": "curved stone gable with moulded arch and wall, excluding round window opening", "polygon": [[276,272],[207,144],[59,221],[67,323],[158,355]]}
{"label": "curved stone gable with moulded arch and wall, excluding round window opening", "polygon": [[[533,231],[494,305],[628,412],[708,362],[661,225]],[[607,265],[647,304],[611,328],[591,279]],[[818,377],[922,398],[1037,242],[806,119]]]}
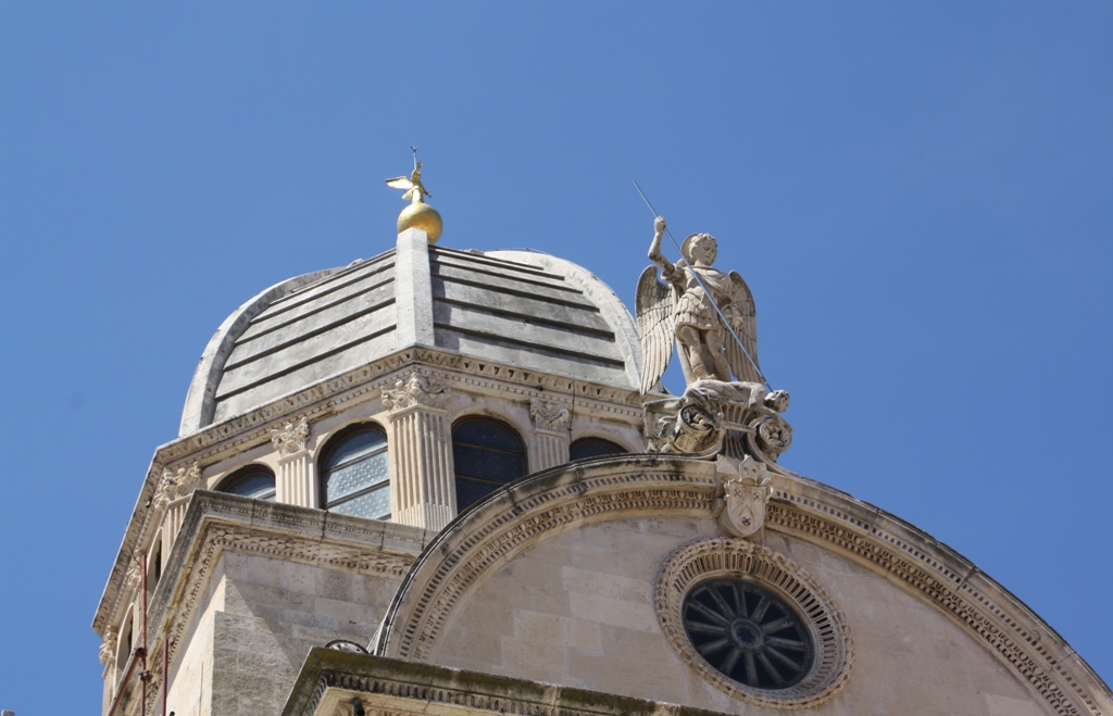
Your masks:
{"label": "curved stone gable with moulded arch and wall, excluding round window opening", "polygon": [[[722,712],[745,703],[899,713],[932,700],[991,716],[1113,712],[1107,687],[1071,647],[954,550],[826,486],[772,479],[765,529],[743,540],[719,527],[715,463],[614,456],[530,476],[430,544],[373,652]],[[847,670],[834,687],[811,700],[762,702],[677,648],[676,629],[670,642],[676,615],[658,581],[678,550],[716,541],[738,554],[766,550],[766,563],[826,595],[848,635]],[[719,573],[772,574],[731,564]],[[778,594],[791,591],[768,579]]]}

